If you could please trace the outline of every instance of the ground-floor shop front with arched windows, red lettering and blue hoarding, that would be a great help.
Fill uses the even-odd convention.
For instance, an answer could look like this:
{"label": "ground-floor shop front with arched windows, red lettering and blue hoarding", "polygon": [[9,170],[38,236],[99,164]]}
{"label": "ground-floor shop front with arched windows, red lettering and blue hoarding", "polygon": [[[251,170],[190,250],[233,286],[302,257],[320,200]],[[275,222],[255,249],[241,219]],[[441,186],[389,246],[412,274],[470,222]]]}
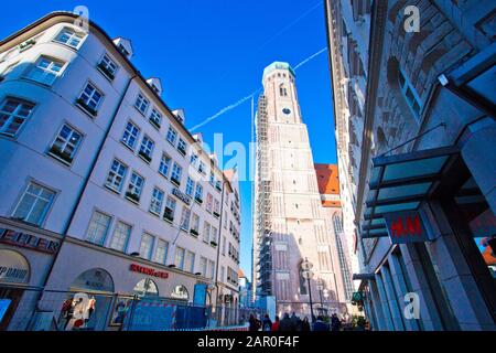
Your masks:
{"label": "ground-floor shop front with arched windows, red lettering and blue hoarding", "polygon": [[[196,287],[203,284],[207,281],[193,274],[67,237],[31,329],[148,331],[200,327],[206,321],[207,309],[205,303],[194,304],[193,297],[195,291],[200,296]],[[207,286],[202,288],[206,299]]]}

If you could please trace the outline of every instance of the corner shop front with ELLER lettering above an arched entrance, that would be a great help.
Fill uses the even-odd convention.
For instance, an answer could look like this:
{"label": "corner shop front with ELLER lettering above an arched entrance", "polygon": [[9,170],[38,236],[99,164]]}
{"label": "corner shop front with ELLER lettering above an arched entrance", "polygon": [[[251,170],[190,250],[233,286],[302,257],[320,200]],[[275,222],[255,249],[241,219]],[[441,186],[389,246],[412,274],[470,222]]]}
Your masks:
{"label": "corner shop front with ELLER lettering above an arched entrance", "polygon": [[60,245],[60,236],[0,220],[0,331],[24,330]]}

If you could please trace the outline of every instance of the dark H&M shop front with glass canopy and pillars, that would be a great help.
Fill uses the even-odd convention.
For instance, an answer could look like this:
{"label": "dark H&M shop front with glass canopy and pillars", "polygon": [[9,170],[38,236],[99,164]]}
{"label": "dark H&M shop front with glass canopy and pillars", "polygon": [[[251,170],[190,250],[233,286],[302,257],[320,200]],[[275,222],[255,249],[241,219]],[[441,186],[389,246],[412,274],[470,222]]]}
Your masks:
{"label": "dark H&M shop front with glass canopy and pillars", "polygon": [[389,247],[356,279],[378,329],[496,329],[496,205],[465,160],[463,145],[373,160],[360,236]]}

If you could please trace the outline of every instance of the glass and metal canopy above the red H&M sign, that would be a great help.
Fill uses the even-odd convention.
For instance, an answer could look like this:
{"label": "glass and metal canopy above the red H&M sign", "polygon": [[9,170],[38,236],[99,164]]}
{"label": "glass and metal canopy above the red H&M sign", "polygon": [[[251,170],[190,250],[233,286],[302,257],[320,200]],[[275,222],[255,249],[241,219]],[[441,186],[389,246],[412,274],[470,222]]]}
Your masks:
{"label": "glass and metal canopy above the red H&M sign", "polygon": [[388,236],[384,215],[417,210],[432,194],[444,168],[459,152],[456,147],[443,147],[374,158],[360,222],[362,238]]}

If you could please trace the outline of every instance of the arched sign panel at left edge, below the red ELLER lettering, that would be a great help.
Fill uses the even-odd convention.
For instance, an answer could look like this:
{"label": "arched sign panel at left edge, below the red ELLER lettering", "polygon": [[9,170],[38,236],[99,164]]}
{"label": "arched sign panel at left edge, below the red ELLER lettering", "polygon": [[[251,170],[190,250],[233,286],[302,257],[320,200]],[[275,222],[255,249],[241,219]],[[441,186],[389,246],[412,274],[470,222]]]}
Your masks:
{"label": "arched sign panel at left edge, below the red ELLER lettering", "polygon": [[26,284],[30,277],[30,265],[21,254],[0,250],[0,282]]}

